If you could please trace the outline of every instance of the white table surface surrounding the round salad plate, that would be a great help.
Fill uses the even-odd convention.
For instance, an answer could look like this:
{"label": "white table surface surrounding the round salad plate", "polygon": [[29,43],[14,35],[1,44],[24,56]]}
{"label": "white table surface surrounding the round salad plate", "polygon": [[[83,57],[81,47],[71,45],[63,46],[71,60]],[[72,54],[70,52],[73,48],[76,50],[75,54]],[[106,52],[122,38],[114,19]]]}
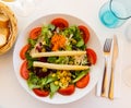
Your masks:
{"label": "white table surface surrounding the round salad plate", "polygon": [[[102,45],[106,37],[110,37],[114,34],[118,35],[119,39],[123,43],[128,43],[123,33],[124,28],[131,21],[128,20],[119,28],[106,28],[98,19],[98,10],[104,2],[106,2],[106,0],[40,0],[40,8],[43,5],[40,10],[35,10],[34,13],[27,17],[16,15],[19,22],[19,33],[21,33],[21,31],[32,21],[41,15],[67,13],[85,21],[95,31]],[[12,57],[13,48],[5,55],[0,56],[0,108],[67,108],[69,106],[71,108],[131,108],[131,87],[128,87],[123,81],[121,82],[121,88],[119,89],[121,93],[120,97],[115,98],[114,100],[97,97],[95,95],[95,87],[90,94],[71,104],[50,105],[36,100],[27,92],[25,92],[17,82],[13,69]],[[121,60],[123,60],[123,58]],[[124,60],[124,62],[127,61]],[[124,68],[126,65],[123,64],[121,70]]]}

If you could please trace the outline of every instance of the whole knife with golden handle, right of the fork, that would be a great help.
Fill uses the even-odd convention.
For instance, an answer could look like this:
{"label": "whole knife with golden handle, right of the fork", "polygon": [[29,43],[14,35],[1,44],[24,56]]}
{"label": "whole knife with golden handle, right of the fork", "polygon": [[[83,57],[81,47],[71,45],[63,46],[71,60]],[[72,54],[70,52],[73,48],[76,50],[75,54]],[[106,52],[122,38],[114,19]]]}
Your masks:
{"label": "whole knife with golden handle, right of the fork", "polygon": [[109,99],[114,99],[114,79],[115,79],[115,67],[116,67],[116,60],[118,58],[118,41],[117,36],[114,36],[114,46],[112,46],[112,59],[111,59],[111,75],[110,75],[110,84],[109,84],[109,93],[108,97]]}

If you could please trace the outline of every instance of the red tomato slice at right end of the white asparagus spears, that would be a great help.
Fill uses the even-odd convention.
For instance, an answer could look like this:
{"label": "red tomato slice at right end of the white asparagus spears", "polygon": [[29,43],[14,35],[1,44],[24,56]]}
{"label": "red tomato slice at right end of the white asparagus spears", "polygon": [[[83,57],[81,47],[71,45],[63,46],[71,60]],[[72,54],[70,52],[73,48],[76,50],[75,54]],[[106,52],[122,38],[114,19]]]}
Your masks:
{"label": "red tomato slice at right end of the white asparagus spears", "polygon": [[97,61],[96,52],[95,52],[93,49],[87,48],[87,49],[86,49],[86,55],[87,55],[87,58],[88,58],[90,62],[91,62],[92,64],[95,64],[96,61]]}

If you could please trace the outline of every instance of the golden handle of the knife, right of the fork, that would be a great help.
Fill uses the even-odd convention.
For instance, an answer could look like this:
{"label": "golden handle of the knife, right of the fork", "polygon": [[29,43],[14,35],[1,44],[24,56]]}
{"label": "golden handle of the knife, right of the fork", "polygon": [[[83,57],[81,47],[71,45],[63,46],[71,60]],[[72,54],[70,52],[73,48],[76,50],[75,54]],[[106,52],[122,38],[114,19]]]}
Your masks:
{"label": "golden handle of the knife, right of the fork", "polygon": [[111,76],[110,76],[108,97],[109,97],[109,99],[114,99],[114,68],[111,68]]}

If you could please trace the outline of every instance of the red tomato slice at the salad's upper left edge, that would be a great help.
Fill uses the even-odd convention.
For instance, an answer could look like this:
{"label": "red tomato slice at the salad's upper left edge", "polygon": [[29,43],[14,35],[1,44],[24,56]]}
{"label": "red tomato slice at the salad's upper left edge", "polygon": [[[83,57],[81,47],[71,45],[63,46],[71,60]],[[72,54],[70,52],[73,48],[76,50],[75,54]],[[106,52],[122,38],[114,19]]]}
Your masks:
{"label": "red tomato slice at the salad's upper left edge", "polygon": [[40,35],[40,33],[41,33],[41,27],[35,27],[31,31],[29,38],[37,39],[37,37]]}

